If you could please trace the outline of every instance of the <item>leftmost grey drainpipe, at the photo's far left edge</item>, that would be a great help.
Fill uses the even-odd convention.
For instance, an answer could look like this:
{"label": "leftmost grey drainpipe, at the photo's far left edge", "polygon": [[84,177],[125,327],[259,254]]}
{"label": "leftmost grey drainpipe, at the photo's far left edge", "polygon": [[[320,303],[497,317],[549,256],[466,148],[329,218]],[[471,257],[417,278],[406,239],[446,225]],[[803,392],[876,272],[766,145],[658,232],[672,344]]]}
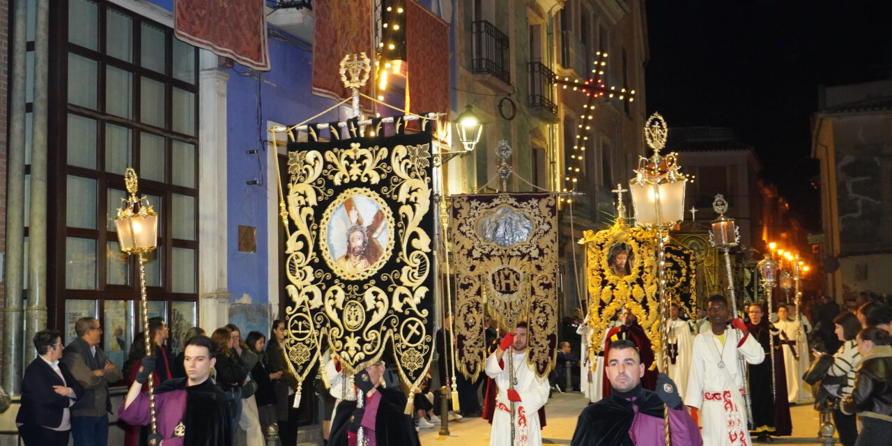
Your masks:
{"label": "leftmost grey drainpipe, at the photo's far left edge", "polygon": [[10,98],[9,158],[6,177],[6,268],[3,337],[3,387],[21,392],[22,260],[25,250],[25,23],[28,4],[14,2],[12,15],[12,94]]}

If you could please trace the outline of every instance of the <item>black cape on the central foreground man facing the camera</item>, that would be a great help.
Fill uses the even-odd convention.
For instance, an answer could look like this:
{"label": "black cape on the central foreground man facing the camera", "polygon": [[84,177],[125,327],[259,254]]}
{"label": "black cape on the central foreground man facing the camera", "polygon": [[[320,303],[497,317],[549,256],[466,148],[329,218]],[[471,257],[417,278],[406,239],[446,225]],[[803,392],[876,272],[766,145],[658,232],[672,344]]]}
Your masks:
{"label": "black cape on the central foreground man facing the camera", "polygon": [[[637,390],[636,390],[637,389]],[[625,398],[637,395],[635,401]],[[635,409],[651,417],[663,418],[663,401],[657,393],[640,386],[625,394],[614,391],[607,398],[582,410],[576,422],[571,446],[634,446],[629,429],[635,419]]]}

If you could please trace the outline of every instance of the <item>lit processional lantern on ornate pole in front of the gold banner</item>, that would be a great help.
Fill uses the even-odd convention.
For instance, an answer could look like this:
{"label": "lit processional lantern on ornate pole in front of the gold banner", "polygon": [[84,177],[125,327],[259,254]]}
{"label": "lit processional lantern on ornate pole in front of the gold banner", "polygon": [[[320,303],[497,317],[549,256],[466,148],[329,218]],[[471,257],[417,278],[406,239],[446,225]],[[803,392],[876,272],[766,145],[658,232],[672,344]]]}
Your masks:
{"label": "lit processional lantern on ornate pole in front of the gold banner", "polygon": [[[662,354],[660,369],[666,369],[669,330],[669,302],[665,295],[665,239],[670,227],[684,219],[684,186],[688,178],[679,171],[677,154],[660,155],[665,148],[668,134],[666,121],[659,113],[654,113],[644,125],[644,139],[654,154],[650,158],[640,157],[635,178],[629,181],[632,192],[632,205],[635,208],[635,221],[640,227],[657,231],[657,290],[660,305],[660,318],[663,324]],[[665,444],[671,444],[669,417],[665,420]]]}

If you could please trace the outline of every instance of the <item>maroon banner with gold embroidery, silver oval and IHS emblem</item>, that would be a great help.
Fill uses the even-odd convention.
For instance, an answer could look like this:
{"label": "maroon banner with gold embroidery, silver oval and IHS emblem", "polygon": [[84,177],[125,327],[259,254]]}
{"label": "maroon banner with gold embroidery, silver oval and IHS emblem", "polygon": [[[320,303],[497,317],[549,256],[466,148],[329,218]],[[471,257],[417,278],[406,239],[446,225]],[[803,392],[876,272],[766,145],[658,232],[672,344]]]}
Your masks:
{"label": "maroon banner with gold embroidery, silver oval and IHS emblem", "polygon": [[558,347],[558,214],[555,194],[473,194],[452,199],[456,369],[471,378],[486,359],[483,322],[526,321],[527,361],[538,376]]}

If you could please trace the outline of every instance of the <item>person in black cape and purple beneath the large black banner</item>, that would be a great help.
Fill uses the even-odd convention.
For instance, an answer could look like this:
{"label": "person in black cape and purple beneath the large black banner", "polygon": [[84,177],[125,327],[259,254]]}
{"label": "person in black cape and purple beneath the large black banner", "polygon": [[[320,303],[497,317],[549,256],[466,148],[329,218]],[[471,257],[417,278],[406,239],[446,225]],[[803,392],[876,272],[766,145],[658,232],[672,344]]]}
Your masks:
{"label": "person in black cape and purple beneath the large black banner", "polygon": [[[368,439],[375,439],[376,446],[420,446],[412,417],[406,415],[406,395],[400,389],[381,387],[384,361],[377,361],[359,371],[353,382],[365,400],[363,407],[356,401],[341,401],[332,422],[331,446],[357,446],[359,428]],[[369,442],[372,444],[372,442]]]}

